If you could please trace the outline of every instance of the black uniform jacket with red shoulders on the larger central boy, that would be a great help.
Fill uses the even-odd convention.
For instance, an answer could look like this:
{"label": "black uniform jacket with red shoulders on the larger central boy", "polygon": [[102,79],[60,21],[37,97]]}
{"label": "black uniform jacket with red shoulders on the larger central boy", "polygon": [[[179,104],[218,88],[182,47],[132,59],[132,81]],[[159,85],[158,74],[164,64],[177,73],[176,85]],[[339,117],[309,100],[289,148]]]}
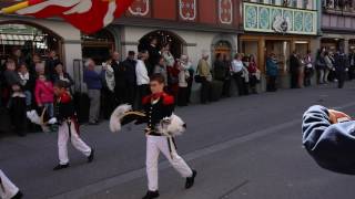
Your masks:
{"label": "black uniform jacket with red shoulders on the larger central boy", "polygon": [[173,114],[175,104],[174,97],[166,93],[152,94],[143,98],[145,118],[143,123],[148,124],[146,133],[154,136],[161,136],[156,132],[156,125]]}

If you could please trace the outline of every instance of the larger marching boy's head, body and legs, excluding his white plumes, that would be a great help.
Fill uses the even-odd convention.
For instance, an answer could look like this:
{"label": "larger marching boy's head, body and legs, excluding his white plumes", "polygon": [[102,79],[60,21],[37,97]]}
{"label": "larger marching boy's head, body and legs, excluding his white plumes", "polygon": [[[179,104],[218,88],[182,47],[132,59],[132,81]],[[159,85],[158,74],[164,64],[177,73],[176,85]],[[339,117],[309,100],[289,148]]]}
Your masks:
{"label": "larger marching boy's head, body and legs, excluding his white plumes", "polygon": [[146,122],[146,175],[148,175],[148,192],[143,199],[152,199],[159,197],[158,189],[158,161],[159,155],[162,153],[170,164],[186,178],[185,188],[190,189],[194,184],[196,171],[192,170],[187,164],[178,155],[175,143],[172,137],[161,134],[156,128],[161,121],[169,119],[174,111],[174,97],[164,93],[164,77],[154,75],[151,77],[150,87],[152,94],[143,98],[143,107]]}

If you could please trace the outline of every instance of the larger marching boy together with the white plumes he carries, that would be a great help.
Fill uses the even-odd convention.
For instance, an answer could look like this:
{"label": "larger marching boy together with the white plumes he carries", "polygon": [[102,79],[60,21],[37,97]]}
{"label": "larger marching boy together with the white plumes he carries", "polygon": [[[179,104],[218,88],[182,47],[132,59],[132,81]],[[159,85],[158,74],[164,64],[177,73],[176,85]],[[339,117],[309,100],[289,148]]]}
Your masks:
{"label": "larger marching boy together with the white plumes he carries", "polygon": [[164,93],[164,77],[155,74],[150,78],[152,94],[142,101],[144,113],[133,112],[132,106],[121,105],[112,114],[110,129],[121,130],[121,126],[132,123],[146,123],[146,175],[148,192],[143,199],[158,198],[158,163],[162,153],[170,164],[186,179],[185,188],[190,189],[196,177],[196,171],[192,170],[187,164],[178,155],[174,136],[181,135],[185,128],[185,123],[173,114],[174,97]]}

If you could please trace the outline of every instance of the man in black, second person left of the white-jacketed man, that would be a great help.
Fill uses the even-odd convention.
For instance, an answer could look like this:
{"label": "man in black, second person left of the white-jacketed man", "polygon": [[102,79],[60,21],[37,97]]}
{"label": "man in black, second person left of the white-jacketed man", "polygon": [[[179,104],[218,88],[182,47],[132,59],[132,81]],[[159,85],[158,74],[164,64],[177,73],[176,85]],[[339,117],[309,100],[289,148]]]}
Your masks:
{"label": "man in black, second person left of the white-jacketed man", "polygon": [[126,90],[126,83],[125,83],[125,66],[120,62],[120,53],[113,52],[112,59],[111,59],[111,66],[114,71],[114,95],[118,105],[125,103],[125,90]]}

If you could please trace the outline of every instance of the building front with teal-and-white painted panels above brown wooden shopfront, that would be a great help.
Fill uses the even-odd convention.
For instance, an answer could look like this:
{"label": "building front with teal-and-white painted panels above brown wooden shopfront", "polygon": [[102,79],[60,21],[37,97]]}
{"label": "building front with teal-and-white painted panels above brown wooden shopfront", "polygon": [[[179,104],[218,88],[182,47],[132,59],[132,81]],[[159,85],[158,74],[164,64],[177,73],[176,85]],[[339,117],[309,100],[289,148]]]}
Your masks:
{"label": "building front with teal-and-white painted panels above brown wooden shopfront", "polygon": [[241,52],[255,54],[262,71],[265,71],[266,57],[274,53],[280,62],[280,86],[288,87],[287,60],[291,53],[297,51],[305,55],[308,50],[318,49],[318,2],[250,0],[243,2],[242,10]]}

